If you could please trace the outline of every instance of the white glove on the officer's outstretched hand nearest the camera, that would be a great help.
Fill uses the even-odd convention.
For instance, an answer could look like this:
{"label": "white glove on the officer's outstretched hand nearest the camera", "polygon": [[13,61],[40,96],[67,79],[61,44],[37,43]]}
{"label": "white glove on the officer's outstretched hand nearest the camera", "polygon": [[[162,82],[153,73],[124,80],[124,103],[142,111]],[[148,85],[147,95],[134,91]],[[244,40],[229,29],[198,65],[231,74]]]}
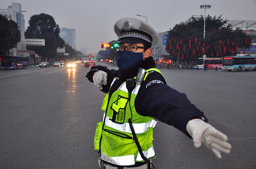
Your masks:
{"label": "white glove on the officer's outstretched hand nearest the camera", "polygon": [[186,130],[194,141],[194,147],[198,148],[204,144],[211,149],[217,158],[221,158],[221,152],[230,153],[231,145],[227,143],[227,135],[216,130],[210,124],[201,119],[192,119],[186,125]]}

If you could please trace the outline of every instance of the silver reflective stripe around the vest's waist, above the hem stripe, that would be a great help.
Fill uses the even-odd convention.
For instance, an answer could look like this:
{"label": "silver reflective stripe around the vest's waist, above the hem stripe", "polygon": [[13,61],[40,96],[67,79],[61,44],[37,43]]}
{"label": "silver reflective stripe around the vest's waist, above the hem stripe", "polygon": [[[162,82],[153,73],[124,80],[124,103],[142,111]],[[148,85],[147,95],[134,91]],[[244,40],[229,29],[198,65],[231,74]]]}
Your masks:
{"label": "silver reflective stripe around the vest's waist, above the hem stripe", "polygon": [[[105,114],[103,117],[103,120],[105,118]],[[133,123],[133,127],[135,130],[135,133],[143,133],[146,132],[148,130],[149,127],[155,127],[155,125],[157,124],[157,121],[152,119],[151,121],[148,121],[147,123]],[[124,123],[124,124],[118,124],[118,123],[114,123],[113,121],[111,121],[109,119],[109,117],[106,117],[105,120],[105,125],[108,127],[112,127],[113,129],[119,130],[121,132],[129,132],[131,133],[131,128],[129,126],[129,123]]]}

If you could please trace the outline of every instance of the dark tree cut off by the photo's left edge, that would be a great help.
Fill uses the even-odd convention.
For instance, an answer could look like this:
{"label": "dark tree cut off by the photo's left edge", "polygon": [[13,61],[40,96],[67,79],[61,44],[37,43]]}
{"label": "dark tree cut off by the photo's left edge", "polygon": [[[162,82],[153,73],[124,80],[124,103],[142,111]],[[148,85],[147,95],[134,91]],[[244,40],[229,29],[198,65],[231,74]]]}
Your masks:
{"label": "dark tree cut off by the photo's left edge", "polygon": [[20,42],[20,31],[17,23],[0,14],[0,54],[9,53],[9,49]]}

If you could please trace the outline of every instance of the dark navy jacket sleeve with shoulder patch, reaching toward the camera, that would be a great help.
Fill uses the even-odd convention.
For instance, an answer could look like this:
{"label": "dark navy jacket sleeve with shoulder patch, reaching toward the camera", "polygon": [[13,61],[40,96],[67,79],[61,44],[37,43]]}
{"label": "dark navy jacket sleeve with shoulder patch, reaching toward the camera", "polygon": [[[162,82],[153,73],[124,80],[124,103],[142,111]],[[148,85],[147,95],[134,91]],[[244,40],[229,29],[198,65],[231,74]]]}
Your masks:
{"label": "dark navy jacket sleeve with shoulder patch, reaching toward the camera", "polygon": [[[166,85],[160,73],[150,73],[141,84],[135,99],[135,109],[143,116],[150,116],[186,132],[186,124],[192,118],[208,121],[203,112],[191,104],[186,94]],[[191,138],[191,137],[190,137]]]}

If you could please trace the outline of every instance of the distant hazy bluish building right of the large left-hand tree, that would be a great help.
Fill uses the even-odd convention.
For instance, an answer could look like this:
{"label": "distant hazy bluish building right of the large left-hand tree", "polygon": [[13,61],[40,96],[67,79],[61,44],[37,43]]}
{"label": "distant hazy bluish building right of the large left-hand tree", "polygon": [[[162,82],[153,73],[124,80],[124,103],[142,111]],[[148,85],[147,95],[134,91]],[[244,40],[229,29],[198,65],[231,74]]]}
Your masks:
{"label": "distant hazy bluish building right of the large left-hand tree", "polygon": [[68,45],[76,50],[76,29],[61,28],[59,35]]}

